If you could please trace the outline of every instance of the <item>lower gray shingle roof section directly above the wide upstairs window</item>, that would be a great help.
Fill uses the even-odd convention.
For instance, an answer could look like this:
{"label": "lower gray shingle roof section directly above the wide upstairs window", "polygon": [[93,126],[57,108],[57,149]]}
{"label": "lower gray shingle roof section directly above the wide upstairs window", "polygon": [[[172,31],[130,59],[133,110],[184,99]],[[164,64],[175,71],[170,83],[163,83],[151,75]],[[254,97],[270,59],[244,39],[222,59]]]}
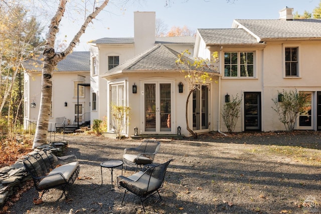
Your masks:
{"label": "lower gray shingle roof section directly above the wide upstairs window", "polygon": [[198,29],[207,45],[258,44],[244,29]]}

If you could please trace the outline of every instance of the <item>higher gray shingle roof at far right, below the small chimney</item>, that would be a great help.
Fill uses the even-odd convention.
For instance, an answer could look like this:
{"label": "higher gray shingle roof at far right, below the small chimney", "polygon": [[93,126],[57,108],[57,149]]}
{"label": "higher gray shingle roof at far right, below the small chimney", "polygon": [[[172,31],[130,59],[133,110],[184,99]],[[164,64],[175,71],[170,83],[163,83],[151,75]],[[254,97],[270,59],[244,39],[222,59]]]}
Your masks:
{"label": "higher gray shingle roof at far right, below the small chimney", "polygon": [[235,20],[257,37],[265,39],[318,38],[321,39],[321,20]]}

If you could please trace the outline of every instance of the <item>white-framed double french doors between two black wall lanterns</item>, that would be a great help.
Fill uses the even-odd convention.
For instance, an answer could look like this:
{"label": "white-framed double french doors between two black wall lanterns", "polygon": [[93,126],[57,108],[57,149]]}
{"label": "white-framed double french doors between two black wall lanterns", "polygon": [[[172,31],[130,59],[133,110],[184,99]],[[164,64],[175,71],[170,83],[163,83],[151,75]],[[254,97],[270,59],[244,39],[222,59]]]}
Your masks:
{"label": "white-framed double french doors between two black wall lanterns", "polygon": [[172,93],[171,82],[144,83],[144,130],[150,133],[171,133]]}

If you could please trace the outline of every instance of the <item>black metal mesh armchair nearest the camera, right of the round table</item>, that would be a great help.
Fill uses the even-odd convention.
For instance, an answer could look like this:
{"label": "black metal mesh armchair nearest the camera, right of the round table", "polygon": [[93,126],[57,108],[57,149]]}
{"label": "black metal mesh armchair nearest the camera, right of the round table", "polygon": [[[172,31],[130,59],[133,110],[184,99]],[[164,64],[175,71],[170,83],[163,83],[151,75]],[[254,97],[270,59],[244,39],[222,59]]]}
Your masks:
{"label": "black metal mesh armchair nearest the camera, right of the round table", "polygon": [[121,204],[123,203],[125,194],[128,191],[140,197],[141,205],[144,211],[145,208],[143,201],[150,196],[158,193],[159,198],[162,200],[158,189],[163,187],[166,170],[171,161],[172,159],[163,164],[146,164],[142,170],[131,176],[118,176],[118,188],[125,188]]}

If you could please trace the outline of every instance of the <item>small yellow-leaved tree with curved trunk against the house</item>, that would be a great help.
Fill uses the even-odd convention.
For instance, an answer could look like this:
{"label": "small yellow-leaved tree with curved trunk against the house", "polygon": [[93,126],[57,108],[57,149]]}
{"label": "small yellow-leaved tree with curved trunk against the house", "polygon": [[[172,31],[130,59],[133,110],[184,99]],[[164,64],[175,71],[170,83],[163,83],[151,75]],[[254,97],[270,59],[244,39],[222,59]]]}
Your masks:
{"label": "small yellow-leaved tree with curved trunk against the house", "polygon": [[217,75],[217,67],[215,62],[218,59],[218,53],[214,52],[212,54],[211,60],[204,59],[194,59],[192,60],[188,56],[191,53],[186,50],[182,54],[179,54],[178,60],[176,63],[180,65],[181,74],[184,75],[185,81],[188,83],[189,93],[186,98],[185,106],[185,118],[186,118],[186,127],[187,130],[193,135],[194,138],[197,138],[197,133],[195,133],[189,126],[188,120],[188,105],[193,91],[200,90],[202,85],[209,85],[213,81],[213,76]]}

